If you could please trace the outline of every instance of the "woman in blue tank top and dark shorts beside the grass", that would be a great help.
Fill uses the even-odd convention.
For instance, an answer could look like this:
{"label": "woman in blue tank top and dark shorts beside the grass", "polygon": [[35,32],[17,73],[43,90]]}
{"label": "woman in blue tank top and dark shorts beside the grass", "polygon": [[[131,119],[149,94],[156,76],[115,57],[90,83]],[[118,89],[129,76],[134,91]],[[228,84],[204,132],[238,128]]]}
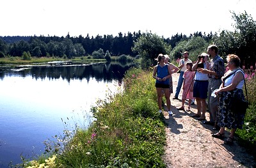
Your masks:
{"label": "woman in blue tank top and dark shorts beside the grass", "polygon": [[169,79],[172,76],[171,68],[168,64],[164,63],[164,55],[159,54],[157,57],[158,64],[154,68],[153,78],[156,79],[156,92],[157,92],[157,104],[159,112],[162,112],[162,90],[166,98],[166,104],[168,107],[168,113],[172,115],[170,91],[169,91]]}

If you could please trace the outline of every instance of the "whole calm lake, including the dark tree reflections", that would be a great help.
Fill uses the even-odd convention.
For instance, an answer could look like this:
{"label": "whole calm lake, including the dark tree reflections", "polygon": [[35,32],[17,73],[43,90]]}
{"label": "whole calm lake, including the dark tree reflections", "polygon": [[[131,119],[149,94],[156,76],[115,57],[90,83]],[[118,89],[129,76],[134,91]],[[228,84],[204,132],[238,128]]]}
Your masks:
{"label": "whole calm lake, including the dark tree reflections", "polygon": [[[130,66],[0,67],[0,167],[44,152],[43,142],[92,121],[91,105],[115,93]],[[62,121],[63,119],[63,121]],[[67,124],[65,124],[67,123]]]}

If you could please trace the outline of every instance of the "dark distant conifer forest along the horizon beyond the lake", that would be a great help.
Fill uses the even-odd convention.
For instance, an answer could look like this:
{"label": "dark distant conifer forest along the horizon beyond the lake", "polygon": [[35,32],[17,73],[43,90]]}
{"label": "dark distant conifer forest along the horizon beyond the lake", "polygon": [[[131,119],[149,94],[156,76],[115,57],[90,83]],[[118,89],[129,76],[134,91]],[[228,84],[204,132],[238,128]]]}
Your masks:
{"label": "dark distant conifer forest along the horizon beyond the lake", "polygon": [[[23,52],[29,52],[31,56],[44,57],[79,57],[91,56],[96,50],[102,49],[104,52],[107,50],[111,56],[120,56],[122,54],[129,56],[136,56],[138,53],[131,50],[134,47],[134,42],[141,36],[141,31],[138,33],[127,34],[118,33],[118,36],[113,35],[97,35],[86,37],[82,35],[70,36],[0,36],[0,57],[4,56],[22,56]],[[189,38],[200,36],[205,41],[209,42],[212,38],[211,34],[202,34],[196,32],[186,36],[183,34],[175,34],[172,38],[164,39],[164,42],[171,45],[172,48],[176,44]]]}

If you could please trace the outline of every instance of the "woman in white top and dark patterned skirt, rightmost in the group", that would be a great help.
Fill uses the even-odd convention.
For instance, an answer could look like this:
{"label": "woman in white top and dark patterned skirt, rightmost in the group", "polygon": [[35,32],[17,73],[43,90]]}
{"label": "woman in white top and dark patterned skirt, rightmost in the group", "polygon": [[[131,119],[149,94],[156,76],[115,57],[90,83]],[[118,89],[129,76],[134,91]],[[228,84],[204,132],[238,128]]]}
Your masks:
{"label": "woman in white top and dark patterned skirt, rightmost in the group", "polygon": [[243,85],[244,85],[244,72],[240,66],[240,59],[234,54],[227,56],[228,71],[221,78],[223,84],[216,90],[215,94],[220,94],[220,105],[217,116],[218,125],[220,131],[217,134],[213,134],[212,137],[223,138],[225,137],[225,127],[230,128],[231,132],[225,144],[232,144],[234,141],[234,134],[237,128],[242,128],[244,121],[244,114],[237,114],[234,111],[230,111],[228,108],[230,98],[232,96],[241,97],[244,99]]}

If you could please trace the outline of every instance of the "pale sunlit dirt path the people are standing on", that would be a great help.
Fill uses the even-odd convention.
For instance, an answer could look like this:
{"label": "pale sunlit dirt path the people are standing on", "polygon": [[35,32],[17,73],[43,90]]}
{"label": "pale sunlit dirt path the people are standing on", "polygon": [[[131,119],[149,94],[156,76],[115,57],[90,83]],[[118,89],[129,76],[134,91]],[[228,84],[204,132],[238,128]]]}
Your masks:
{"label": "pale sunlit dirt path the people are standing on", "polygon": [[[173,92],[176,90],[179,74],[173,74]],[[196,113],[196,105],[191,105],[191,112],[178,111],[179,100],[172,100],[173,116],[164,112],[166,127],[166,149],[164,160],[167,167],[256,167],[253,157],[246,153],[235,141],[232,146],[223,140],[212,139],[212,126],[204,125],[191,116]],[[185,103],[186,108],[187,102]],[[206,113],[209,119],[209,113]],[[229,132],[225,132],[228,137]],[[225,139],[224,139],[225,140]]]}

